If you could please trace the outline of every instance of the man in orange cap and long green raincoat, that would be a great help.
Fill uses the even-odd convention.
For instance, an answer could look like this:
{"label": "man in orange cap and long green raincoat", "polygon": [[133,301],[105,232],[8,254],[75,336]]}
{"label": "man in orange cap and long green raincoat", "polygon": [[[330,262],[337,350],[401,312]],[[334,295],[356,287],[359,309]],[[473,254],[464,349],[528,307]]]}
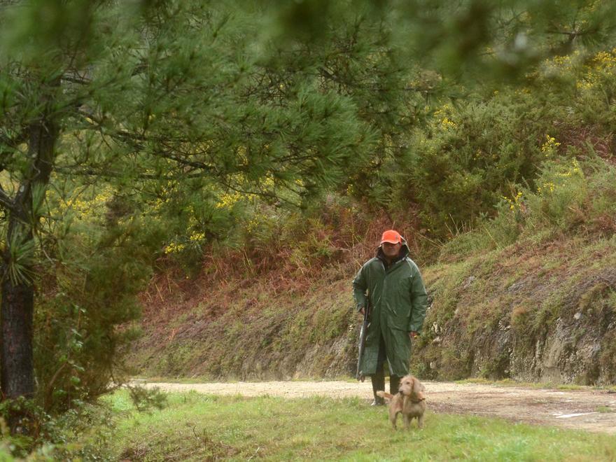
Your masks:
{"label": "man in orange cap and long green raincoat", "polygon": [[377,391],[385,389],[385,360],[389,391],[398,393],[400,377],[409,374],[411,340],[419,334],[426,317],[426,288],[419,268],[408,255],[407,242],[400,233],[385,231],[377,256],[365,262],[353,279],[353,297],[360,314],[370,298],[370,326],[359,366],[360,374],[372,379],[372,405],[384,404]]}

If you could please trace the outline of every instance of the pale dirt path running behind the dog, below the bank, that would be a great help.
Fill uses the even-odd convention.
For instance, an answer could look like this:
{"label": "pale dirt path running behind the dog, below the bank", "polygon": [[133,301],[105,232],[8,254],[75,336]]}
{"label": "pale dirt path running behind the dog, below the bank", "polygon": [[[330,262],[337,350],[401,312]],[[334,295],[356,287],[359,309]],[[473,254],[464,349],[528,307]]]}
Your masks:
{"label": "pale dirt path running behind the dog, below the bank", "polygon": [[[428,409],[449,414],[475,414],[526,423],[553,425],[616,435],[616,393],[605,390],[560,391],[517,386],[424,381]],[[327,395],[372,400],[370,382],[264,381],[207,384],[148,383],[164,391],[211,394],[272,395],[300,398]]]}

